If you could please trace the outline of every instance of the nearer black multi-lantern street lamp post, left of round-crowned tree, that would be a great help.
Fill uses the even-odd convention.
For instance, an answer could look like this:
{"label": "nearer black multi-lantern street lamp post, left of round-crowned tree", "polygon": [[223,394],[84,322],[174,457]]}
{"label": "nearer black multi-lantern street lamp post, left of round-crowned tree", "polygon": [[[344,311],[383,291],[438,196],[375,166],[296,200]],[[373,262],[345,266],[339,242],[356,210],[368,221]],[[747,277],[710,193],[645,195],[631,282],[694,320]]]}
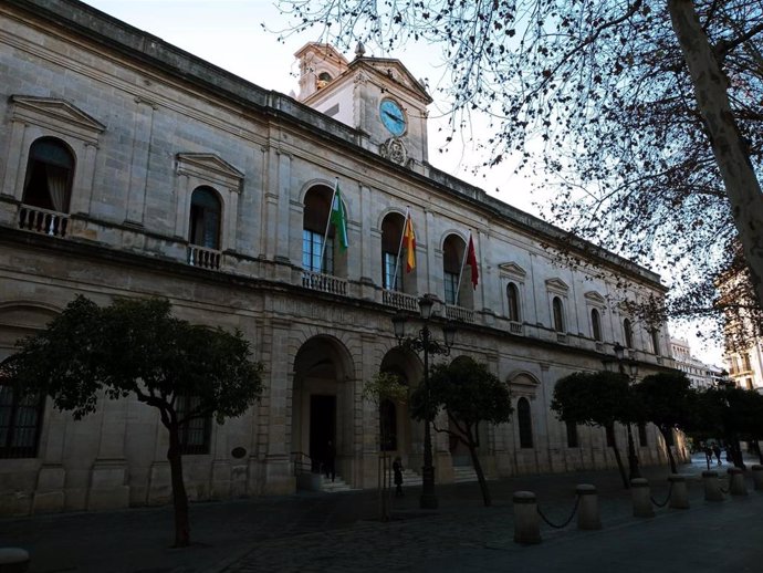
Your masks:
{"label": "nearer black multi-lantern street lamp post, left of round-crowned tree", "polygon": [[429,355],[430,354],[450,354],[450,348],[456,340],[456,327],[451,323],[446,323],[442,327],[442,335],[445,345],[431,338],[431,331],[429,330],[429,319],[431,317],[432,306],[435,301],[431,296],[424,295],[419,299],[419,312],[424,326],[418,333],[418,336],[405,335],[406,317],[401,313],[397,313],[393,317],[393,326],[395,327],[395,337],[398,344],[410,348],[415,352],[424,354],[424,392],[425,392],[425,420],[424,420],[424,467],[421,468],[421,498],[419,507],[421,509],[437,509],[437,496],[435,494],[435,466],[432,463],[432,442],[431,442],[431,419],[429,419]]}

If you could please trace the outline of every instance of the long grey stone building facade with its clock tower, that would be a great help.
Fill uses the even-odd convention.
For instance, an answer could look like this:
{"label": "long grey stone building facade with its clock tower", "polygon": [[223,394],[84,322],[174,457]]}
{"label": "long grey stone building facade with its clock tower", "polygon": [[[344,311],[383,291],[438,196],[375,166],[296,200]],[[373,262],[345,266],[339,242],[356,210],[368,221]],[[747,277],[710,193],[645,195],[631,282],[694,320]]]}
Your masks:
{"label": "long grey stone building facade with its clock tower", "polygon": [[[309,44],[292,98],[75,0],[7,0],[0,31],[0,360],[80,293],[166,296],[181,319],[240,329],[265,390],[184,438],[191,499],[292,492],[299,461],[330,439],[337,472],[374,487],[379,413],[364,382],[386,369],[419,383],[421,358],[390,319],[416,324],[424,294],[438,300],[438,336],[458,325],[447,360],[484,362],[511,387],[512,423],[483,428],[491,477],[614,465],[604,430],[566,427],[551,395],[560,377],[602,368],[616,342],[641,375],[668,365],[667,329],[620,304],[662,296],[659,277],[574,240],[595,265],[566,267],[561,230],[432,167],[430,98],[400,62]],[[324,249],[337,181],[346,250],[333,230]],[[395,273],[407,213],[416,267]],[[475,288],[458,280],[470,237]],[[0,392],[3,514],[170,499],[153,408],[102,400],[74,421]],[[385,415],[395,454],[420,467],[421,425],[404,406]],[[654,428],[638,454],[665,460]],[[435,455],[439,482],[467,461],[442,436]]]}

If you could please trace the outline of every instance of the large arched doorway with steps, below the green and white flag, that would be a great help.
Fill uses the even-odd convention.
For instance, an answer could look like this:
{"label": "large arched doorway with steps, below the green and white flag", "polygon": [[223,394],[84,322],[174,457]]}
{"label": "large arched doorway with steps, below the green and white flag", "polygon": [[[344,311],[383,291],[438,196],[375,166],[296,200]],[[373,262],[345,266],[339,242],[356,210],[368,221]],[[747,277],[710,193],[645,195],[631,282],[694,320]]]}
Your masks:
{"label": "large arched doorway with steps, below the green and white flag", "polygon": [[305,342],[294,358],[292,454],[320,471],[336,455],[337,475],[349,478],[353,445],[352,361],[331,336]]}

